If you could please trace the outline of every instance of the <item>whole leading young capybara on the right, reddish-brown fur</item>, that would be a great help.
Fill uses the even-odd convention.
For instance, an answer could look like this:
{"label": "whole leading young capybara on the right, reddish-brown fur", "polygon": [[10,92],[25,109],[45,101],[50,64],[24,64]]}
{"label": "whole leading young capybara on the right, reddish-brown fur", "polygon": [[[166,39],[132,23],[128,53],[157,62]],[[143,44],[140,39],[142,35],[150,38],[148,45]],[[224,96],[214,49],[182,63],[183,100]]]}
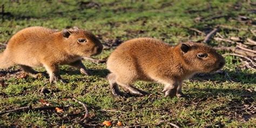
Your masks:
{"label": "whole leading young capybara on the right, reddish-brown fur", "polygon": [[[189,48],[188,51],[181,50],[181,45]],[[208,56],[199,58],[202,53]],[[172,47],[157,39],[136,38],[124,42],[111,53],[107,69],[111,72],[108,79],[113,95],[124,95],[118,85],[133,94],[144,95],[145,91],[131,84],[146,80],[164,84],[165,96],[181,97],[184,96],[181,92],[184,79],[195,73],[216,71],[224,64],[224,58],[205,44],[187,42]]]}

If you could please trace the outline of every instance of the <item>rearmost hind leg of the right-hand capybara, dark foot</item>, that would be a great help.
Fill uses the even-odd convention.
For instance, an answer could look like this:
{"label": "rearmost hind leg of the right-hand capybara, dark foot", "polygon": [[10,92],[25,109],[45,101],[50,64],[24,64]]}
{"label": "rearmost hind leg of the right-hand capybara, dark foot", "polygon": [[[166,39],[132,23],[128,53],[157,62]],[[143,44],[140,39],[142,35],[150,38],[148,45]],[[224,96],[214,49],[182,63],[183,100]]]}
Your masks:
{"label": "rearmost hind leg of the right-hand capybara, dark foot", "polygon": [[110,73],[107,75],[107,79],[109,80],[110,90],[114,96],[127,96],[126,93],[119,90],[118,84],[116,83],[116,75]]}

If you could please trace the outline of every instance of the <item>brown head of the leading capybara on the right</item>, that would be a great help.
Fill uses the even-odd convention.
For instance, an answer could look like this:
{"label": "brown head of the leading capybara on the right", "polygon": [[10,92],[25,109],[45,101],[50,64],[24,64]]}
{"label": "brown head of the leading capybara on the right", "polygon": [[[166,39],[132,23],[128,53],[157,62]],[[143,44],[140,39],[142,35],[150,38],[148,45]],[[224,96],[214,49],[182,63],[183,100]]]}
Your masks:
{"label": "brown head of the leading capybara on the right", "polygon": [[175,49],[179,49],[184,62],[196,72],[213,72],[225,65],[225,59],[203,43],[180,43]]}

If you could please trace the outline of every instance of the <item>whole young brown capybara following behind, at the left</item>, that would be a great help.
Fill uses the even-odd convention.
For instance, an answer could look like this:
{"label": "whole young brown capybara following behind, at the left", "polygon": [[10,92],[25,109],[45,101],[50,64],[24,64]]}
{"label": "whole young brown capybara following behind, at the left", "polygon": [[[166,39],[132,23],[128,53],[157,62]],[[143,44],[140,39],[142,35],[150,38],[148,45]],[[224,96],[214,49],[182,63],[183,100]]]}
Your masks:
{"label": "whole young brown capybara following behind, at the left", "polygon": [[[79,43],[78,39],[87,42]],[[69,64],[87,74],[82,57],[98,55],[103,45],[90,32],[73,28],[56,31],[34,26],[17,32],[0,55],[0,69],[20,65],[32,75],[37,72],[31,67],[44,66],[50,75],[50,82],[61,79],[58,65]]]}

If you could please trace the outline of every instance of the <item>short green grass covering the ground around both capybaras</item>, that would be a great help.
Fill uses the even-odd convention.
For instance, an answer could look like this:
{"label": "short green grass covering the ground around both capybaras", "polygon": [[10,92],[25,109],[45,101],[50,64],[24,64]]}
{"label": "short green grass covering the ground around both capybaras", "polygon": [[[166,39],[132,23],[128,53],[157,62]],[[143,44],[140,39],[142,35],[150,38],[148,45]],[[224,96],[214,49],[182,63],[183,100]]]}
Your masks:
{"label": "short green grass covering the ground around both capybaras", "polygon": [[[6,43],[17,31],[28,26],[45,26],[65,29],[79,26],[92,31],[102,43],[113,45],[136,37],[153,37],[166,43],[177,44],[185,41],[202,41],[200,35],[190,29],[205,33],[216,25],[226,25],[240,30],[219,31],[220,35],[242,39],[256,39],[248,30],[255,30],[253,22],[239,22],[238,16],[246,16],[251,21],[256,15],[248,11],[255,9],[246,1],[102,1],[86,4],[82,1],[1,1],[5,12],[0,24],[0,42]],[[211,19],[214,16],[226,17]],[[201,18],[200,21],[195,19]],[[225,42],[212,40],[211,46],[230,46]],[[4,50],[4,45],[1,45]],[[113,49],[104,50],[96,58],[103,59]],[[221,52],[221,51],[219,51]],[[69,66],[61,66],[62,76],[68,84],[51,85],[47,78],[20,78],[21,69],[14,67],[2,70],[5,86],[0,86],[0,110],[32,105],[44,106],[40,99],[56,106],[69,105],[64,113],[55,111],[27,111],[8,113],[0,116],[0,125],[8,126],[82,126],[101,124],[111,120],[124,126],[170,126],[181,127],[231,127],[255,126],[255,71],[246,69],[239,58],[226,56],[223,73],[197,75],[184,82],[183,91],[190,98],[165,98],[163,85],[137,82],[135,85],[151,93],[144,97],[113,97],[105,76],[105,64],[84,61],[93,71],[92,76],[81,75]],[[38,68],[39,71],[45,71]],[[42,95],[42,87],[51,93]],[[85,124],[75,124],[83,116],[83,107],[69,97],[76,97],[87,104],[90,116]],[[114,110],[114,111],[108,111]],[[79,114],[79,113],[82,114]],[[75,116],[74,116],[75,114]],[[86,126],[86,125],[85,125]]]}

